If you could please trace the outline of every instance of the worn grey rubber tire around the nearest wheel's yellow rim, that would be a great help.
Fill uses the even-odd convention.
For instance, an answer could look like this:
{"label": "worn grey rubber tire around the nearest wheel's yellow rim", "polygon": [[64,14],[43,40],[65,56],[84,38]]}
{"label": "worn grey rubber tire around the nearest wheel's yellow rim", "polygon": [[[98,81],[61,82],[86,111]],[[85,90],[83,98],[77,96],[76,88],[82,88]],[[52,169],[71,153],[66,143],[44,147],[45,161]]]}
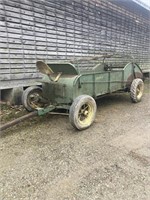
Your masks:
{"label": "worn grey rubber tire around the nearest wheel's yellow rim", "polygon": [[[79,120],[79,111],[82,108],[82,106],[86,104],[90,106],[90,111],[92,112],[91,116],[87,120],[88,123],[86,120],[83,120],[85,121],[85,123]],[[91,96],[89,95],[78,96],[70,106],[69,110],[70,123],[72,124],[73,127],[75,127],[78,130],[86,129],[89,126],[91,126],[91,124],[95,120],[96,110],[97,110],[96,102]]]}

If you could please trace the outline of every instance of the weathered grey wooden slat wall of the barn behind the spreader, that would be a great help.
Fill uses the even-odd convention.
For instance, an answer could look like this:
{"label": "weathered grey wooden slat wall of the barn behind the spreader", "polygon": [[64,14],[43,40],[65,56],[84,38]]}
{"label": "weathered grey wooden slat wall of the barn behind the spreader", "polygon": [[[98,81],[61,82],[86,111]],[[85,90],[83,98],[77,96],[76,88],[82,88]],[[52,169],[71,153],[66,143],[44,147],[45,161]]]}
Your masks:
{"label": "weathered grey wooden slat wall of the barn behind the spreader", "polygon": [[0,89],[38,79],[36,60],[122,52],[148,67],[149,11],[118,2],[0,0]]}

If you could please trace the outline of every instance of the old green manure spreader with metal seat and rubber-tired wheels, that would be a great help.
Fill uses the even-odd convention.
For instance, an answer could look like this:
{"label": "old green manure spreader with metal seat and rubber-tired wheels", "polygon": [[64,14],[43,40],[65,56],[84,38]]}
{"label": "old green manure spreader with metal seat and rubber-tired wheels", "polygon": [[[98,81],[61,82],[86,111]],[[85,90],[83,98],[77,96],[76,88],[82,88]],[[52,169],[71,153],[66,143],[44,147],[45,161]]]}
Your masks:
{"label": "old green manure spreader with metal seat and rubber-tired wheels", "polygon": [[78,130],[88,128],[96,117],[95,100],[114,92],[128,92],[131,101],[140,102],[143,73],[130,56],[98,55],[74,61],[37,61],[44,74],[42,87],[28,87],[22,96],[28,111],[38,115],[65,109]]}

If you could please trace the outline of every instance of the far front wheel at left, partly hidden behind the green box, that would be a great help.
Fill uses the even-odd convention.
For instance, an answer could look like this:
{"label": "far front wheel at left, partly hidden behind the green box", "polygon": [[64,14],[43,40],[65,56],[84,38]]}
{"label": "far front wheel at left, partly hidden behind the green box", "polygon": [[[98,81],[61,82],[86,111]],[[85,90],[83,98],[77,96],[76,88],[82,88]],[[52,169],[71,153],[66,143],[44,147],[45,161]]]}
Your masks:
{"label": "far front wheel at left, partly hidden behind the green box", "polygon": [[31,86],[24,90],[22,95],[22,104],[28,111],[33,111],[38,107],[42,107],[42,88]]}

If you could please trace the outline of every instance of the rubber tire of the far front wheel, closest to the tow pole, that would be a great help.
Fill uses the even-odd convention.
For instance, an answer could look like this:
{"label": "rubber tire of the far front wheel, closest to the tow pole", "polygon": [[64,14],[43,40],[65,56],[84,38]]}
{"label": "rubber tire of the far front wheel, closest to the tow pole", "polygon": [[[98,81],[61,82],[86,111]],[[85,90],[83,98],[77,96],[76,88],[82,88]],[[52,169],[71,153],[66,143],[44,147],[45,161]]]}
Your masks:
{"label": "rubber tire of the far front wheel, closest to the tow pole", "polygon": [[29,94],[30,94],[31,92],[42,93],[42,88],[40,88],[40,87],[38,87],[38,86],[30,86],[30,87],[28,87],[26,90],[23,91],[23,94],[22,94],[22,104],[23,104],[23,106],[26,108],[26,110],[28,110],[29,112],[35,110],[35,108],[32,107],[32,106],[28,103],[28,97],[29,97]]}

